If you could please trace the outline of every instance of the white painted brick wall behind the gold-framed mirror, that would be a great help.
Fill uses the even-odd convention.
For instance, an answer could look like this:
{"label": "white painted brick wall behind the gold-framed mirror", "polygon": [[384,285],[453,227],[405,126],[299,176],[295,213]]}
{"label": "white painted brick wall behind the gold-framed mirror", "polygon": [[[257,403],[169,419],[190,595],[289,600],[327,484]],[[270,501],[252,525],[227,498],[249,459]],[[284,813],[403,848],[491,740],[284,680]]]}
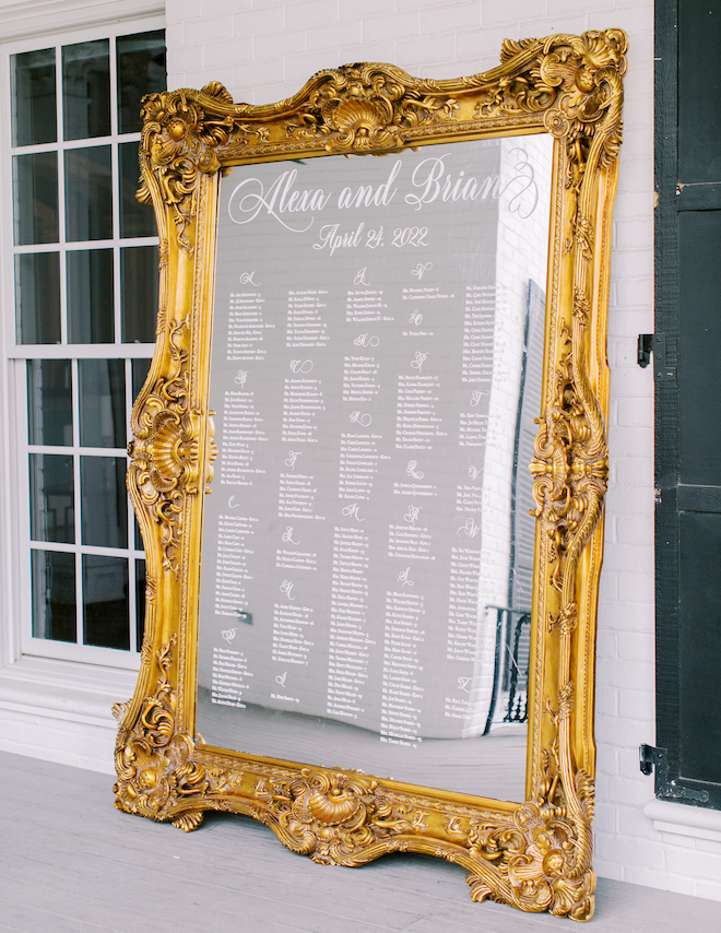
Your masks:
{"label": "white painted brick wall behind the gold-framed mirror", "polygon": [[637,334],[653,330],[652,0],[168,0],[166,11],[170,85],[221,80],[236,101],[256,104],[289,96],[315,71],[347,61],[450,78],[497,64],[505,37],[628,32],[608,324],[595,864],[607,877],[721,900],[721,843],[654,830],[642,813],[653,779],[638,767],[638,746],[654,741],[653,382],[650,367],[636,364]]}

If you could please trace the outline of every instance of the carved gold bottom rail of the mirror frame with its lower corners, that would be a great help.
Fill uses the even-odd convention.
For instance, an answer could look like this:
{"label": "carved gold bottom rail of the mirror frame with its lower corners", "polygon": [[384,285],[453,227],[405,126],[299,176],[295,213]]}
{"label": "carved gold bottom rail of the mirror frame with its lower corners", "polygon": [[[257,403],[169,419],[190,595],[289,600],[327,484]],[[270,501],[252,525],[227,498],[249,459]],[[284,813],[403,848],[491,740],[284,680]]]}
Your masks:
{"label": "carved gold bottom rail of the mirror frame with its lower corners", "polygon": [[[582,772],[574,794],[582,808],[572,815],[559,779],[549,775],[548,753],[537,799],[506,812],[421,796],[399,803],[394,790],[353,771],[213,764],[189,734],[176,731],[168,680],[174,647],[175,637],[157,651],[157,684],[134,725],[123,729],[121,721],[119,810],[186,832],[208,810],[251,816],[287,849],[322,864],[358,866],[391,852],[435,855],[469,872],[473,900],[581,921],[593,916],[593,782]],[[125,706],[114,711],[122,720]]]}

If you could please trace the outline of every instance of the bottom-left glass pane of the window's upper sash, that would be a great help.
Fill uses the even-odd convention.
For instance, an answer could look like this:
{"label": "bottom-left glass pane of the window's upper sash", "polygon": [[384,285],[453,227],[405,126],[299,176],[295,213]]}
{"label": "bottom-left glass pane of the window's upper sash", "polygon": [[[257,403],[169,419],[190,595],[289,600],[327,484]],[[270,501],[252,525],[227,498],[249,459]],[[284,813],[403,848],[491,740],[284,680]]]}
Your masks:
{"label": "bottom-left glass pane of the window's upper sash", "polygon": [[17,343],[60,343],[60,256],[15,257]]}

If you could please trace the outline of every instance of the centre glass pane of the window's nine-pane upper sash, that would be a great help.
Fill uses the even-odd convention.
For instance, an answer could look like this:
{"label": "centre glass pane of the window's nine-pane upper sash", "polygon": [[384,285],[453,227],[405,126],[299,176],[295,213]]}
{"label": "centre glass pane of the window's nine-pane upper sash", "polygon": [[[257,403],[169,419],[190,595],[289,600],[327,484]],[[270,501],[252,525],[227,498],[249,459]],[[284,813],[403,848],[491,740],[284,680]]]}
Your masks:
{"label": "centre glass pane of the window's nine-pane upper sash", "polygon": [[66,236],[70,243],[113,237],[109,145],[66,152]]}

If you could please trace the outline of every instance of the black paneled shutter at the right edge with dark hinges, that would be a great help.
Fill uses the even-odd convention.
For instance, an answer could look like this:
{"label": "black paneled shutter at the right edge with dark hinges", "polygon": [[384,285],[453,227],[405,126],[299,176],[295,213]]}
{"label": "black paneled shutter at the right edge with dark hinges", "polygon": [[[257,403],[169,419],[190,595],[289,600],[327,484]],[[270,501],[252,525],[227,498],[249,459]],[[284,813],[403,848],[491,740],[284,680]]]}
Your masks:
{"label": "black paneled shutter at the right edge with dark hinges", "polygon": [[655,57],[655,792],[721,808],[721,0]]}

